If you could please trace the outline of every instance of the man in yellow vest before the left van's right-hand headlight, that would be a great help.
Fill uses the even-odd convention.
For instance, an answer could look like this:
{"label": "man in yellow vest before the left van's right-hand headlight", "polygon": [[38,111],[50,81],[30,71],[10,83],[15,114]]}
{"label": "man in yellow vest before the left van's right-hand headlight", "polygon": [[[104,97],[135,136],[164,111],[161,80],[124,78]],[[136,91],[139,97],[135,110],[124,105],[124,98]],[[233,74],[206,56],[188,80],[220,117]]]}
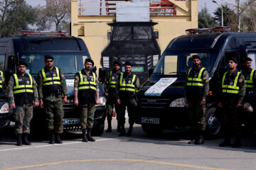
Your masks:
{"label": "man in yellow vest before the left van's right-hand headlight", "polygon": [[[75,74],[75,106],[80,106],[80,124],[82,129],[82,142],[95,139],[91,136],[95,104],[100,103],[99,99],[99,81],[96,74],[91,71],[94,62],[91,59],[85,60],[85,69]],[[87,134],[86,134],[87,129]]]}

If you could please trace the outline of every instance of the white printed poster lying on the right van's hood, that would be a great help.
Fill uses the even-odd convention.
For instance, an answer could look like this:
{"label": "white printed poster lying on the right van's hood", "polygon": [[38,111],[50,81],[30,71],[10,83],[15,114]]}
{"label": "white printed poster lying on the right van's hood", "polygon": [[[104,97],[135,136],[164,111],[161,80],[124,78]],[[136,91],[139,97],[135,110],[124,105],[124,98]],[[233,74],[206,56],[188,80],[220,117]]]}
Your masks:
{"label": "white printed poster lying on the right van's hood", "polygon": [[163,91],[176,81],[177,78],[162,78],[156,84],[151,86],[144,96],[161,96]]}

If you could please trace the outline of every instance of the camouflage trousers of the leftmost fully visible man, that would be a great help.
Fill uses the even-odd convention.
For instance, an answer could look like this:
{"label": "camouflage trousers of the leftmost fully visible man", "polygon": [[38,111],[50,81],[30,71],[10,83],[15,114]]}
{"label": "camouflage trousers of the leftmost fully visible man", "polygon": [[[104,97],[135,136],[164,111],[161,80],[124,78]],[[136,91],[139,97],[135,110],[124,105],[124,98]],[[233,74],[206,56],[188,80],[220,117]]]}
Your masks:
{"label": "camouflage trousers of the leftmost fully visible man", "polygon": [[33,118],[33,106],[16,106],[15,111],[15,134],[30,133],[30,122]]}

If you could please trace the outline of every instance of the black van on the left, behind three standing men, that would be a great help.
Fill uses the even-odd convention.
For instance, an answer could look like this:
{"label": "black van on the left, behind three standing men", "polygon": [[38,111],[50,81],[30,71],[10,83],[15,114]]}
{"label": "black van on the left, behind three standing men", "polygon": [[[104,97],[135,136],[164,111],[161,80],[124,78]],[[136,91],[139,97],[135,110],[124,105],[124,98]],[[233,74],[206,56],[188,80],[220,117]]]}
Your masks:
{"label": "black van on the left, behind three standing men", "polygon": [[[68,86],[68,103],[64,104],[64,128],[65,130],[78,130],[80,114],[78,107],[73,105],[74,75],[84,68],[85,59],[90,58],[85,42],[80,38],[64,36],[62,32],[57,32],[58,36],[53,33],[36,36],[33,35],[36,33],[26,31],[23,31],[22,34],[19,37],[0,39],[0,69],[4,70],[6,84],[11,74],[16,73],[18,61],[28,63],[26,72],[37,79],[38,72],[45,67],[44,55],[52,55],[55,58],[54,66],[62,69]],[[92,128],[94,135],[101,135],[104,130],[107,110],[103,94],[104,89],[100,84],[101,104],[96,106],[95,124]],[[46,118],[43,109],[36,107],[31,122],[31,132],[44,129],[44,120]]]}

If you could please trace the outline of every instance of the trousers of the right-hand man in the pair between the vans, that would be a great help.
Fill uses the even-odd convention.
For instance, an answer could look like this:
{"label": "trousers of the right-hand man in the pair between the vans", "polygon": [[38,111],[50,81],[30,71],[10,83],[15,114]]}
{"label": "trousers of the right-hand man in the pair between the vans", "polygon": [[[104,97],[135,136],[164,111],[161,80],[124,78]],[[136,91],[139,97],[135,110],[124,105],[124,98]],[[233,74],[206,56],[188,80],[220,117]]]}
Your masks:
{"label": "trousers of the right-hand man in the pair between the vans", "polygon": [[129,124],[134,124],[134,115],[132,114],[133,106],[129,100],[121,98],[121,104],[119,105],[119,123],[120,125],[125,124],[125,110],[127,108],[128,117],[129,117]]}

